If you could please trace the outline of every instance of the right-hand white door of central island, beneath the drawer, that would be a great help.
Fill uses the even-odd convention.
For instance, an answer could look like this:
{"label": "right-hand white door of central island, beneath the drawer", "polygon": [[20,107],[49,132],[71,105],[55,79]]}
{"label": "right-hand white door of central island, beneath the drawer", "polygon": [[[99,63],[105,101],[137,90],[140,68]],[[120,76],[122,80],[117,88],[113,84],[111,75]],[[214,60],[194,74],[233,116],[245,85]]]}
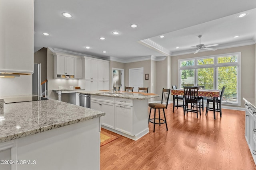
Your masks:
{"label": "right-hand white door of central island, beneath the drawer", "polygon": [[131,106],[115,104],[115,129],[133,136],[133,115]]}

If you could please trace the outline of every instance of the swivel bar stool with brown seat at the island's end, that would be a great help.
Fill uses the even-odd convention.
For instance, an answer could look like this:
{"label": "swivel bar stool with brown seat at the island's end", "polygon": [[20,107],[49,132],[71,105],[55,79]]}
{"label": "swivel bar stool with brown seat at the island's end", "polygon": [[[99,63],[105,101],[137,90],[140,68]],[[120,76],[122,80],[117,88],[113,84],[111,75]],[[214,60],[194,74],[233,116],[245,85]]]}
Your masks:
{"label": "swivel bar stool with brown seat at the island's end", "polygon": [[[164,124],[164,123],[166,125],[166,131],[168,131],[164,109],[167,109],[170,92],[171,92],[171,89],[163,88],[161,103],[150,103],[150,104],[148,104],[148,106],[150,107],[150,112],[149,112],[149,116],[148,116],[148,123],[149,122],[154,123],[154,131],[153,132],[155,132],[155,125],[156,124],[161,125],[161,124]],[[151,109],[155,109],[154,110],[154,118],[152,118],[152,119],[150,119]],[[158,118],[156,118],[156,109],[158,109]],[[164,119],[160,118],[160,109],[163,109]],[[156,120],[158,120],[159,122],[157,123]]]}

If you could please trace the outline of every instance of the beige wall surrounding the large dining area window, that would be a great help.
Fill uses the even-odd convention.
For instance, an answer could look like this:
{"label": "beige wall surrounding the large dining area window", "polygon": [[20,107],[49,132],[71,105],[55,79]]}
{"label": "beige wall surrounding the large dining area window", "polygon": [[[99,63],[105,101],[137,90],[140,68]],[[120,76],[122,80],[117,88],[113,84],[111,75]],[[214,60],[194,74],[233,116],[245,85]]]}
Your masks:
{"label": "beige wall surrounding the large dining area window", "polygon": [[206,51],[197,54],[187,54],[172,57],[172,79],[173,85],[178,85],[178,60],[192,57],[203,57],[210,55],[219,55],[226,53],[241,52],[241,107],[244,107],[243,98],[254,98],[255,94],[255,45],[246,45],[228,49],[218,49],[216,51]]}

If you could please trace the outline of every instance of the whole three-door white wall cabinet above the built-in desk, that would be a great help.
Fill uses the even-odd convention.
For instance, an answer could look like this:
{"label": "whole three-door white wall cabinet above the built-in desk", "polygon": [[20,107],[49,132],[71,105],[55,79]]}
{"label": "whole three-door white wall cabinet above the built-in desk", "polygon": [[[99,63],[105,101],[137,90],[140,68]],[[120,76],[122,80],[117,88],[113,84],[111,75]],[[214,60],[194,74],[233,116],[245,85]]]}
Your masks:
{"label": "whole three-door white wall cabinet above the built-in desk", "polygon": [[71,55],[54,55],[54,78],[82,78],[82,59]]}

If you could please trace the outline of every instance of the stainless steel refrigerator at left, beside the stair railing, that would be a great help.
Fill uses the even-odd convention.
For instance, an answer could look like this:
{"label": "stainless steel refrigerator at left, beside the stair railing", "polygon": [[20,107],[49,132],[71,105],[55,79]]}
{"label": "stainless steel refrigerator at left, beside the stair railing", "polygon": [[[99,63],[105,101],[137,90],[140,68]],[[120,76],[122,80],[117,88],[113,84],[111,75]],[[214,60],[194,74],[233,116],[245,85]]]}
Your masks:
{"label": "stainless steel refrigerator at left, beside the stair railing", "polygon": [[34,74],[32,76],[32,94],[42,96],[41,89],[41,64],[34,63]]}

